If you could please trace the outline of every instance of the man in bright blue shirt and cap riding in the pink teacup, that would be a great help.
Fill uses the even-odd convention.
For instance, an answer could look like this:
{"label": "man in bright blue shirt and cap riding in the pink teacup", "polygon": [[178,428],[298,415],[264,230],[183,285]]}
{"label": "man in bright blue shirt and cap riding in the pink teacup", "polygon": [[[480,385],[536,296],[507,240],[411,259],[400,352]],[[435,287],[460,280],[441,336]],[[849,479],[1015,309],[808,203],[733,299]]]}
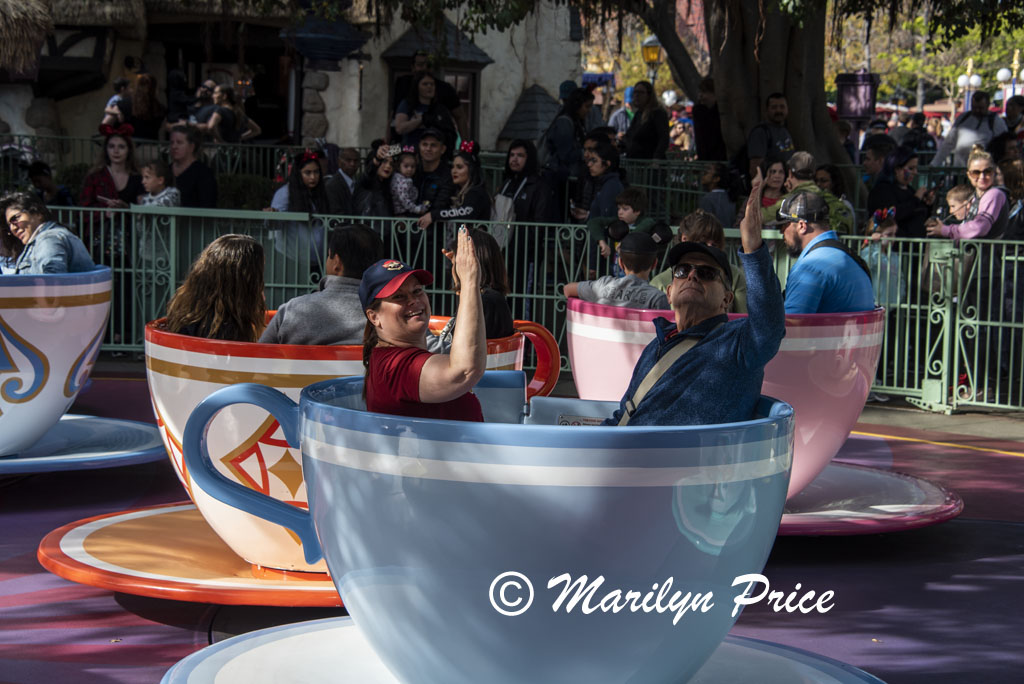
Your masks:
{"label": "man in bright blue shirt and cap riding in the pink teacup", "polygon": [[828,229],[828,205],[821,196],[805,191],[786,197],[778,218],[790,255],[799,257],[785,283],[786,313],[874,308],[867,266]]}

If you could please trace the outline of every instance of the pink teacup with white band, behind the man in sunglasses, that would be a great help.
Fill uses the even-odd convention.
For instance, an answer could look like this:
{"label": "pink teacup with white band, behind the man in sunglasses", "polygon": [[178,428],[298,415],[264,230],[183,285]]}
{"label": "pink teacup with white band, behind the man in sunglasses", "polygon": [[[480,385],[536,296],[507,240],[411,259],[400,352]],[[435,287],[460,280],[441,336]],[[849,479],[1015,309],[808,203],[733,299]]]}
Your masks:
{"label": "pink teacup with white band, behind the man in sunglasses", "polygon": [[[673,313],[568,300],[569,364],[581,398],[622,399],[658,316],[671,320]],[[790,497],[810,484],[850,436],[874,380],[884,331],[882,308],[785,316],[785,337],[765,367],[761,391],[796,413]]]}

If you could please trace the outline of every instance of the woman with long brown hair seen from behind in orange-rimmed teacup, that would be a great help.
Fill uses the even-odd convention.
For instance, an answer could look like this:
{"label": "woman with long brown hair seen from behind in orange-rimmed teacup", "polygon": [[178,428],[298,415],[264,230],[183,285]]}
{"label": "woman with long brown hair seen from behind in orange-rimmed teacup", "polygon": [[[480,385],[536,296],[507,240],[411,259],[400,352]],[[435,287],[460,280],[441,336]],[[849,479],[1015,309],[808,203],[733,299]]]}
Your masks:
{"label": "woman with long brown hair seen from behind in orange-rimmed teacup", "polygon": [[196,259],[167,305],[164,327],[193,337],[257,342],[265,322],[263,247],[232,233],[214,240]]}

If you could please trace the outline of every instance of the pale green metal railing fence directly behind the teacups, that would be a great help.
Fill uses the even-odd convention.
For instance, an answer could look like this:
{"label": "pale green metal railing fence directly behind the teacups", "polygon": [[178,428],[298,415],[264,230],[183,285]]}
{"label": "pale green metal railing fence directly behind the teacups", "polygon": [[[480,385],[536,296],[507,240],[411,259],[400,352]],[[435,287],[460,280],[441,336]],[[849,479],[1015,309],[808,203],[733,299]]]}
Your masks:
{"label": "pale green metal railing fence directly behind the teacups", "polygon": [[[140,351],[147,320],[163,314],[189,264],[214,238],[251,234],[265,248],[268,308],[314,290],[326,233],[349,222],[371,225],[391,256],[431,270],[434,311],[455,312],[451,266],[441,248],[455,226],[422,231],[406,219],[308,216],[226,210],[133,207],[129,210],[59,208],[57,219],[75,229],[94,258],[115,272],[112,316],[103,348]],[[580,225],[484,224],[507,236],[505,254],[518,318],[536,320],[565,352],[562,286],[608,272]],[[738,231],[726,231],[730,252]],[[775,230],[765,230],[780,281],[792,265]],[[862,238],[844,238],[853,249]],[[1024,410],[1024,245],[1001,241],[893,240],[867,256],[889,310],[873,389],[901,395],[930,411],[961,407]]]}

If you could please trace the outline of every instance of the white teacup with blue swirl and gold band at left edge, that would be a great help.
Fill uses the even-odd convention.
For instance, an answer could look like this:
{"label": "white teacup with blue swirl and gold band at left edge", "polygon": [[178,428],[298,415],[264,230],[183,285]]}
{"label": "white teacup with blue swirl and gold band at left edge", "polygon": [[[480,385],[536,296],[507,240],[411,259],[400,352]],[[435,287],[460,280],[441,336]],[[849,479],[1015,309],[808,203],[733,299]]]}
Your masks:
{"label": "white teacup with blue swirl and gold band at left edge", "polygon": [[0,276],[0,456],[36,443],[82,389],[111,311],[111,269]]}

